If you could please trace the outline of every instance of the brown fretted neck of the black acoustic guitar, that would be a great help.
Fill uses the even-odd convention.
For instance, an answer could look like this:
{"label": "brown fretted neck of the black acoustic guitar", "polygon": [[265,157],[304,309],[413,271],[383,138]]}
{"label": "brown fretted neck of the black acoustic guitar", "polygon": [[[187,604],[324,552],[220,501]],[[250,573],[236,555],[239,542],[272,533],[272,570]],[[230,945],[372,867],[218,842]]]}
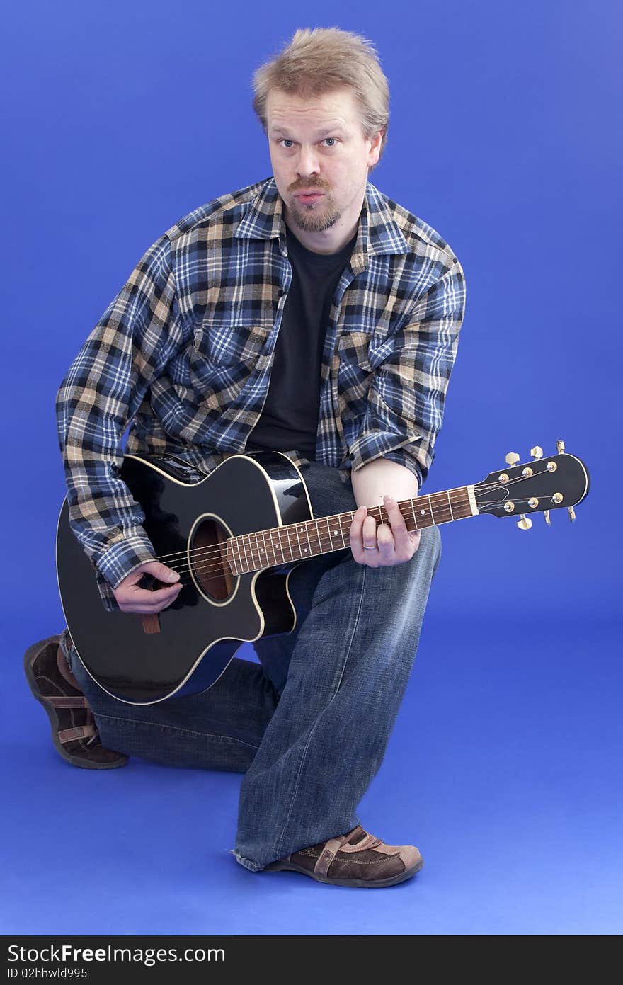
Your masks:
{"label": "brown fretted neck of the black acoustic guitar", "polygon": [[[475,516],[478,512],[473,486],[402,499],[398,505],[405,517],[407,530],[453,523]],[[229,537],[226,558],[231,571],[233,574],[248,574],[293,560],[342,551],[349,546],[353,516],[354,510]],[[389,523],[385,506],[368,507],[368,516],[373,516],[379,523]]]}

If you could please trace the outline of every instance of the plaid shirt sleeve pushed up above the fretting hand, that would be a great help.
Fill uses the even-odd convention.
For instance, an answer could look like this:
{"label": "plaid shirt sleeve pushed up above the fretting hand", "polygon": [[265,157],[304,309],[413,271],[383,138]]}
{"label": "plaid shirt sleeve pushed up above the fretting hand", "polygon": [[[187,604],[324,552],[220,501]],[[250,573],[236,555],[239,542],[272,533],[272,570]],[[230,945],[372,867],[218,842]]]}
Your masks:
{"label": "plaid shirt sleeve pushed up above the fretting hand", "polygon": [[393,348],[372,375],[363,427],[350,443],[354,471],[375,458],[409,469],[421,486],[434,457],[465,315],[458,260],[408,313]]}

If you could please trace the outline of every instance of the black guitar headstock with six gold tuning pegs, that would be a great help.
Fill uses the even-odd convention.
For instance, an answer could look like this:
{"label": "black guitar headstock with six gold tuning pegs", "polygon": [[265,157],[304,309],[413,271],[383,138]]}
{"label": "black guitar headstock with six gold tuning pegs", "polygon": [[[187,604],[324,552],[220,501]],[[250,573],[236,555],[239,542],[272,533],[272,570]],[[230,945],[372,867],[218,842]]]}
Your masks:
{"label": "black guitar headstock with six gold tuning pegs", "polygon": [[510,452],[507,465],[490,472],[473,491],[479,513],[494,516],[518,516],[518,527],[530,530],[531,513],[544,513],[550,523],[552,509],[568,509],[575,520],[574,506],[589,492],[589,470],[575,455],[565,452],[564,441],[557,441],[557,454],[543,456],[538,445],[530,448],[530,462],[520,463],[520,456]]}

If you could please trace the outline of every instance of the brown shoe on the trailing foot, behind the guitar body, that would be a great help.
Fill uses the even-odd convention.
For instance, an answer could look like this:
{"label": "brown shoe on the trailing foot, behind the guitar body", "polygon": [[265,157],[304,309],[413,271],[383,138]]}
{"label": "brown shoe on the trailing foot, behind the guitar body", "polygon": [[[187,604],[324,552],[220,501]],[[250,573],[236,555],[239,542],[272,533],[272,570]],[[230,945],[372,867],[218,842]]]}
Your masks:
{"label": "brown shoe on the trailing foot, behind the guitar body", "polygon": [[52,742],[63,759],[85,769],[114,769],[128,756],[104,749],[99,742],[89,701],[70,671],[59,646],[60,636],[33,643],[24,655],[29,687],[52,726]]}

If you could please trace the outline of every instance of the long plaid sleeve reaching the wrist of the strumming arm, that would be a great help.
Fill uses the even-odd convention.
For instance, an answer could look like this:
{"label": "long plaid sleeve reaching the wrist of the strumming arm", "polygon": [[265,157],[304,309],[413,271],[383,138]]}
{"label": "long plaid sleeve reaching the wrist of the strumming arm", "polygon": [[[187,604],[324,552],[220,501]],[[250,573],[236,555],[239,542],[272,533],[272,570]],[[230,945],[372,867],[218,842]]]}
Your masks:
{"label": "long plaid sleeve reaching the wrist of the strumming arm", "polygon": [[145,514],[119,477],[122,436],[184,334],[163,235],[104,311],[56,397],[70,526],[108,610],[118,608],[112,589],[155,557]]}

